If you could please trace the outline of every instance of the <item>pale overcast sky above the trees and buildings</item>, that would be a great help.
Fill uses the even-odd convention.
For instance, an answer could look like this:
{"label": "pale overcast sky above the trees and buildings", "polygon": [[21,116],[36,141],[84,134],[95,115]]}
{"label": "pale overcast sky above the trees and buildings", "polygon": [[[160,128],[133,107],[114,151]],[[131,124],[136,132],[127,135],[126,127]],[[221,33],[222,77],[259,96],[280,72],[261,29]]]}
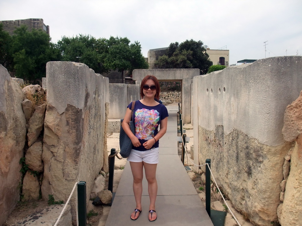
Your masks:
{"label": "pale overcast sky above the trees and buildings", "polygon": [[301,0],[0,1],[0,20],[28,18],[42,18],[52,42],[79,34],[127,37],[140,42],[145,57],[186,39],[230,50],[229,64],[302,54]]}

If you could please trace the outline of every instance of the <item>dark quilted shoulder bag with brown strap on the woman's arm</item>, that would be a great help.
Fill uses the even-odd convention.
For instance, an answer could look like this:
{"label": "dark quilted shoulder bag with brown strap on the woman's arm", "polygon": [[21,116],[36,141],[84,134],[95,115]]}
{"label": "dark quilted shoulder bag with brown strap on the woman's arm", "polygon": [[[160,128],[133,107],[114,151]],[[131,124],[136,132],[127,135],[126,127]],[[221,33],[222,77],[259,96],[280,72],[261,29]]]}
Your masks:
{"label": "dark quilted shoulder bag with brown strap on the woman's arm", "polygon": [[[134,105],[135,105],[135,101],[132,101],[131,117],[130,117],[130,121],[129,121],[129,126],[130,126],[130,130],[133,134],[135,132],[135,126],[134,126],[134,122],[133,122],[133,118],[132,118]],[[127,158],[130,155],[130,152],[132,149],[132,141],[130,140],[130,138],[125,133],[125,131],[122,127],[123,121],[124,121],[124,119],[120,120],[120,155],[123,158]]]}

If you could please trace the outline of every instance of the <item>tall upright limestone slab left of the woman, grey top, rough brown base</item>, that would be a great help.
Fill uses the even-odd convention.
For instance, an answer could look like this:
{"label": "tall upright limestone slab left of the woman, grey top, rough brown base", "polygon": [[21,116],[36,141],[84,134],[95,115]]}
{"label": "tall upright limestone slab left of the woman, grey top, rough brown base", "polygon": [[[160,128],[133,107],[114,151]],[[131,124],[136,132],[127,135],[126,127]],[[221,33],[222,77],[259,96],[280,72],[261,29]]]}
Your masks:
{"label": "tall upright limestone slab left of the woman, grey top, rough brown base", "polygon": [[89,200],[94,180],[108,161],[104,155],[108,78],[74,62],[48,62],[46,70],[42,197],[48,200],[53,194],[66,202],[75,182],[84,180]]}

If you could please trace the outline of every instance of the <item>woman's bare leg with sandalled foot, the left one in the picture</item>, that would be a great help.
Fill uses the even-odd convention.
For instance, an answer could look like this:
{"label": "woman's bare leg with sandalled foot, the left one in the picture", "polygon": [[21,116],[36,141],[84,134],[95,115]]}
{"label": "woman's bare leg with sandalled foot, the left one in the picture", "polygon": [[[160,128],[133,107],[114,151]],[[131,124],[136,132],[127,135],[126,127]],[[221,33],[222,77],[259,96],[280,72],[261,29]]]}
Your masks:
{"label": "woman's bare leg with sandalled foot, the left one in the picture", "polygon": [[[142,193],[143,193],[143,162],[130,162],[130,167],[133,175],[133,193],[136,202],[136,209],[142,210]],[[138,218],[140,212],[131,214],[131,218]],[[134,217],[135,215],[135,217]]]}

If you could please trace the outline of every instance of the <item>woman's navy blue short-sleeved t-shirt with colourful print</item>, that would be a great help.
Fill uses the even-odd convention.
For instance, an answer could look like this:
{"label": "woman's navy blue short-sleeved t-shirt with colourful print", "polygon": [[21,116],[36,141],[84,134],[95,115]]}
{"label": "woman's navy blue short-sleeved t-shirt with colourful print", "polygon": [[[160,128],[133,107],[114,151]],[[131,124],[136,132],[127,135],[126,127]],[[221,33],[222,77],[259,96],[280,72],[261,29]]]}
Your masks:
{"label": "woman's navy blue short-sleeved t-shirt with colourful print", "polygon": [[[132,102],[128,105],[131,110]],[[146,151],[143,146],[147,140],[153,139],[158,133],[158,126],[160,121],[168,117],[168,110],[163,104],[158,104],[156,106],[146,106],[142,104],[139,100],[135,102],[133,109],[133,121],[135,125],[135,136],[141,143],[141,146],[134,147],[132,149],[138,151]],[[131,119],[130,119],[131,120]],[[157,148],[159,146],[159,141],[152,146],[152,148]]]}

